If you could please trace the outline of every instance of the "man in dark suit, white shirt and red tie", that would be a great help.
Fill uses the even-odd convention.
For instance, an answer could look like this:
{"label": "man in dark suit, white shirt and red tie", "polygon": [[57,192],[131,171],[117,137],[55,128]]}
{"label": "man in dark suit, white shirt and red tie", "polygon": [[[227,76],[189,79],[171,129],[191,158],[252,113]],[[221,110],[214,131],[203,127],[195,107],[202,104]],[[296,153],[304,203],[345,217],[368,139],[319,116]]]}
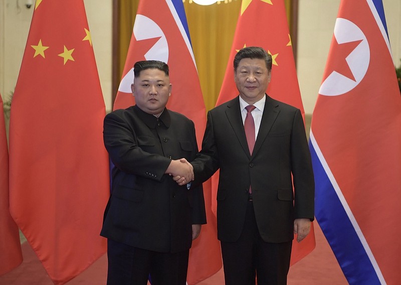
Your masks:
{"label": "man in dark suit, white shirt and red tie", "polygon": [[302,115],[265,93],[271,68],[272,57],[262,48],[237,53],[240,95],[209,111],[202,151],[191,162],[192,185],[220,168],[218,238],[227,285],[255,284],[255,276],[258,285],[286,284],[294,232],[301,241],[314,219]]}

